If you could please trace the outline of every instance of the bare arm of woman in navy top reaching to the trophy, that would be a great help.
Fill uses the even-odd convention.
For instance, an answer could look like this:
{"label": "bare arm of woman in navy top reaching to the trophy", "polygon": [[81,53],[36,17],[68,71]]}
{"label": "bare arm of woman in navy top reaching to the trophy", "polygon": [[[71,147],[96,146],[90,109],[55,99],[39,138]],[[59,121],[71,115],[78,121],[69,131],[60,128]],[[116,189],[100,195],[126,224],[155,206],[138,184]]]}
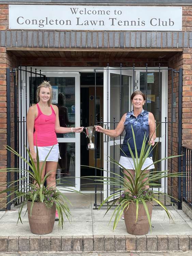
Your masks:
{"label": "bare arm of woman in navy top reaching to the trophy", "polygon": [[102,132],[110,137],[118,137],[124,131],[124,122],[125,122],[126,113],[122,116],[120,122],[118,123],[115,130],[104,129],[99,125],[95,125],[95,130],[98,132]]}

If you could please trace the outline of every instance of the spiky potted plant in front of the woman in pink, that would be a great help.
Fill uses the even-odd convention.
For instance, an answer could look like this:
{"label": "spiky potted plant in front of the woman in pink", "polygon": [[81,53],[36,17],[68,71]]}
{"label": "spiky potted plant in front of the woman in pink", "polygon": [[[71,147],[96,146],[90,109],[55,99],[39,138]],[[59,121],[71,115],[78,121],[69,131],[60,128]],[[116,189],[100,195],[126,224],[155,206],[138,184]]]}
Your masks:
{"label": "spiky potted plant in front of the woman in pink", "polygon": [[[42,171],[43,171],[43,167],[45,165],[46,159],[50,151],[52,150],[52,148],[49,151],[48,155],[46,156],[41,169],[39,165],[38,147],[36,147],[36,160],[37,160],[36,166],[27,147],[26,147],[26,150],[29,154],[30,161],[20,156],[11,147],[6,146],[6,148],[16,156],[21,158],[23,161],[25,161],[25,163],[28,166],[28,168],[25,169],[25,172],[27,173],[29,178],[24,183],[24,187],[19,188],[18,186],[19,180],[26,179],[26,177],[21,177],[17,181],[10,182],[8,184],[7,189],[0,191],[0,194],[10,192],[10,194],[6,197],[6,199],[11,196],[12,198],[11,201],[15,199],[18,200],[21,197],[24,198],[24,201],[21,203],[19,208],[18,221],[20,220],[20,222],[22,223],[21,212],[23,210],[24,205],[27,203],[26,212],[28,212],[29,225],[32,233],[34,234],[51,233],[55,223],[56,209],[58,211],[58,216],[59,216],[58,228],[59,229],[63,228],[63,223],[64,223],[63,214],[65,215],[65,217],[68,219],[69,222],[71,221],[71,212],[68,207],[68,203],[70,203],[70,201],[65,197],[63,193],[65,191],[71,191],[71,192],[77,192],[77,193],[80,193],[80,192],[72,188],[70,189],[70,187],[62,188],[61,189],[62,191],[59,191],[55,187],[47,188],[44,186],[45,181],[47,177],[50,175],[50,173],[45,174],[44,178],[41,179]],[[19,170],[16,168],[0,170],[0,172],[18,172],[18,173],[21,171],[22,170]],[[33,180],[34,182],[31,183],[30,180]]]}

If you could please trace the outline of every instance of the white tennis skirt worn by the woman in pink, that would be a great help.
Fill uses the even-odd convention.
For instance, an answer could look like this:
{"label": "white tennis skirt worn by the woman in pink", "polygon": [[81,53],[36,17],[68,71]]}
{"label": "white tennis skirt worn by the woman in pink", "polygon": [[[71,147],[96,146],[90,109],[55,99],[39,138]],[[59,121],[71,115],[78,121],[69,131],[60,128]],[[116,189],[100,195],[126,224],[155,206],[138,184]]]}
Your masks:
{"label": "white tennis skirt worn by the woman in pink", "polygon": [[[46,147],[38,147],[38,152],[39,152],[39,161],[43,162],[48,155],[50,149],[52,146],[46,146]],[[36,146],[34,146],[34,151],[36,153]],[[51,152],[49,153],[46,161],[52,161],[52,162],[57,162],[58,159],[60,159],[60,154],[59,154],[59,144],[57,143],[56,145],[53,146]]]}

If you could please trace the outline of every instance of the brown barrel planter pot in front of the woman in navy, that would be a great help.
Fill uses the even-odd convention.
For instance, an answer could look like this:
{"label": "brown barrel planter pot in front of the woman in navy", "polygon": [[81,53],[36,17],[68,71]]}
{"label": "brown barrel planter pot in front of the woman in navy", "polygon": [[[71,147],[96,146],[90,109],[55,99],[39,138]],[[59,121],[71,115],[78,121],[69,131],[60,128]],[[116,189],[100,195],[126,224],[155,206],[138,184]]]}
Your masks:
{"label": "brown barrel planter pot in front of the woman in navy", "polygon": [[[146,202],[146,204],[151,218],[152,204],[150,202]],[[134,202],[130,203],[129,207],[124,209],[124,221],[129,234],[144,235],[149,232],[149,222],[143,204],[139,204],[136,224],[136,203]]]}

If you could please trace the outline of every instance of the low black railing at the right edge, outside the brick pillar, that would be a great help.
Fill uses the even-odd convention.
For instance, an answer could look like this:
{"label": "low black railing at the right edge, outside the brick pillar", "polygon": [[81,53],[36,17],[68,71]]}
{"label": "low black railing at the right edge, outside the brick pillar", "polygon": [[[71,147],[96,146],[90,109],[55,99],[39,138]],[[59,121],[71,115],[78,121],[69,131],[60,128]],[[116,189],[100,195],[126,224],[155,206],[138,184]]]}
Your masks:
{"label": "low black railing at the right edge, outside the brick pillar", "polygon": [[182,199],[192,208],[192,147],[182,147]]}

